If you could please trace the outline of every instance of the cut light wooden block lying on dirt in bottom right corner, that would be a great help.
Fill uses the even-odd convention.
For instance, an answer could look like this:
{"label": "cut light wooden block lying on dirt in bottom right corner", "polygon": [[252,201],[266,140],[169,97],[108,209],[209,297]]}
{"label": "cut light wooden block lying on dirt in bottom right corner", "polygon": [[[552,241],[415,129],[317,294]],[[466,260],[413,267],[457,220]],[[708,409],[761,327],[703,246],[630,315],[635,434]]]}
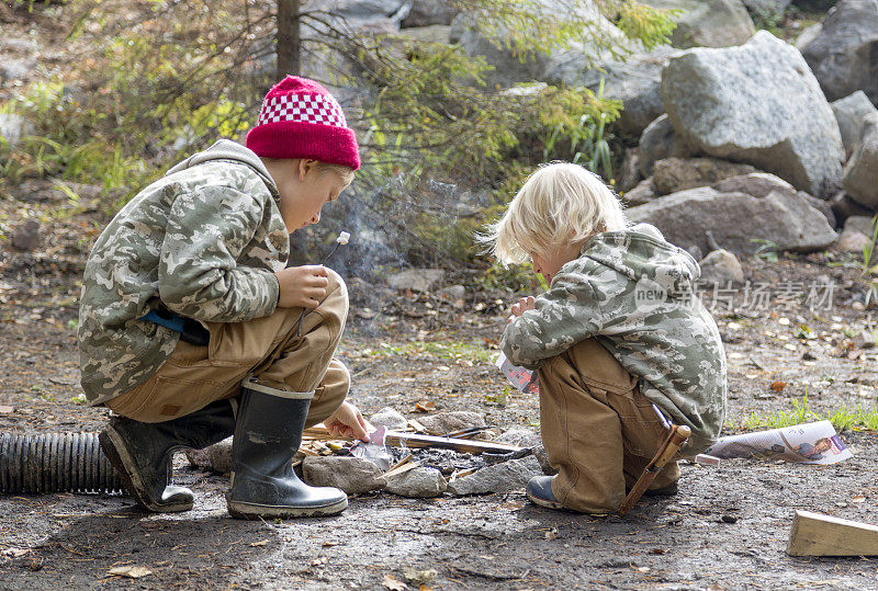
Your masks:
{"label": "cut light wooden block lying on dirt in bottom right corner", "polygon": [[787,554],[878,556],[878,526],[810,511],[796,511]]}

